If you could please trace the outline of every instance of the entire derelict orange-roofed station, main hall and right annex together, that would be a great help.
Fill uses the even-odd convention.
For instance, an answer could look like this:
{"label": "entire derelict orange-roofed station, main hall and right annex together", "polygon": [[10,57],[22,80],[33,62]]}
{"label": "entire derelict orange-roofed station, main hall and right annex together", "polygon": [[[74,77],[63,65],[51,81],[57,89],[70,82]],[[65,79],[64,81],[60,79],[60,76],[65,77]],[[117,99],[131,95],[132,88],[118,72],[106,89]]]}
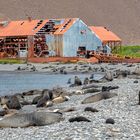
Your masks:
{"label": "entire derelict orange-roofed station, main hall and right annex together", "polygon": [[105,27],[87,26],[79,18],[0,21],[0,58],[32,62],[110,55],[122,40]]}

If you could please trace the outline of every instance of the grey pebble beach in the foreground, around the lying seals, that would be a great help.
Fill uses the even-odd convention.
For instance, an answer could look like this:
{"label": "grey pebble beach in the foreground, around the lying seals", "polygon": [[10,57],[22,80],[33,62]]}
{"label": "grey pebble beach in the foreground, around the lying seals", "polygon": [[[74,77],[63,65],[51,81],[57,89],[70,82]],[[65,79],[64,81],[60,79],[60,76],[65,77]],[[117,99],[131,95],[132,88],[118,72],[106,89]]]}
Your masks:
{"label": "grey pebble beach in the foreground, around the lying seals", "polygon": [[[75,107],[76,111],[64,113],[64,121],[60,123],[29,128],[1,128],[0,139],[7,140],[139,140],[140,139],[140,106],[138,92],[140,79],[123,78],[99,85],[119,86],[113,90],[118,96],[91,104],[81,104],[81,101],[92,95],[73,95],[70,100],[54,108]],[[84,112],[85,107],[93,107],[99,112]],[[70,123],[69,118],[84,116],[91,122]],[[115,124],[106,124],[107,118],[113,118]]]}

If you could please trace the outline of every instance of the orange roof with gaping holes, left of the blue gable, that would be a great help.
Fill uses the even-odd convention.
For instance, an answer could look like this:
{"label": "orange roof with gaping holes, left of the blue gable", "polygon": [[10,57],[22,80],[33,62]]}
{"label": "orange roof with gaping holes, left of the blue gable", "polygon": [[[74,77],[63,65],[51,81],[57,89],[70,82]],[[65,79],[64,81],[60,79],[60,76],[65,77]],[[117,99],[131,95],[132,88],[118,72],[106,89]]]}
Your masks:
{"label": "orange roof with gaping holes, left of the blue gable", "polygon": [[64,34],[76,20],[77,18],[0,21],[0,37]]}

